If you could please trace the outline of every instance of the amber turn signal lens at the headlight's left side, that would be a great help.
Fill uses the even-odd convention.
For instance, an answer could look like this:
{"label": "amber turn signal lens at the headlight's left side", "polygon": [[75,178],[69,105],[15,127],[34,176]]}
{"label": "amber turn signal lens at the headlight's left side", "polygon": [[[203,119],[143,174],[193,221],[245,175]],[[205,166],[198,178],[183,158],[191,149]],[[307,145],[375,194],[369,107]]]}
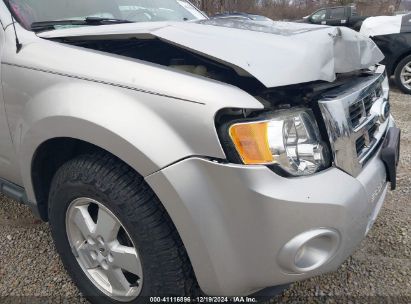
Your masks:
{"label": "amber turn signal lens at the headlight's left side", "polygon": [[234,124],[230,127],[229,133],[244,164],[274,162],[268,143],[268,122]]}

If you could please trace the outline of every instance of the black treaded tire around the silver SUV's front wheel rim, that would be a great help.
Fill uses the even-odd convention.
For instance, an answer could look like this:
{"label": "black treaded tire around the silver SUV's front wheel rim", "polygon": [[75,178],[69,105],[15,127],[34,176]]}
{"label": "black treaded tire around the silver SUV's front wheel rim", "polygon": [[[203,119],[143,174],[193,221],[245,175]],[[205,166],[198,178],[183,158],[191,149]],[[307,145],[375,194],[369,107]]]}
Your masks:
{"label": "black treaded tire around the silver SUV's front wheel rim", "polygon": [[86,196],[107,207],[121,221],[138,248],[144,273],[140,296],[188,296],[199,291],[183,243],[164,207],[144,179],[104,153],[82,155],[55,174],[49,197],[52,236],[63,264],[83,295],[93,303],[119,303],[89,280],[71,251],[65,225],[67,208]]}

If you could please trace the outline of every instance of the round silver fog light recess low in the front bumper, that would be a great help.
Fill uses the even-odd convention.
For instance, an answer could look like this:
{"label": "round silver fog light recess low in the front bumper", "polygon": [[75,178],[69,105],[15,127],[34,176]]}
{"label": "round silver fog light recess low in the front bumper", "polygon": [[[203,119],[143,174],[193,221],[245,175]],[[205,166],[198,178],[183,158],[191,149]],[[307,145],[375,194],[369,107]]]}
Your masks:
{"label": "round silver fog light recess low in the front bumper", "polygon": [[330,261],[340,245],[340,235],[332,229],[306,231],[283,246],[278,262],[293,273],[313,271]]}

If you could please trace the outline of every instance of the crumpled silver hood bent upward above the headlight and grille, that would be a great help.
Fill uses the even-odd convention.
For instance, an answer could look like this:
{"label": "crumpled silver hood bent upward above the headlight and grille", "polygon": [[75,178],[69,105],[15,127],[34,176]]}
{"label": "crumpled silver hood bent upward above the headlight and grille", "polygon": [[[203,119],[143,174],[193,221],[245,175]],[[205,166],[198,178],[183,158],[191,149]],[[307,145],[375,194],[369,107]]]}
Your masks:
{"label": "crumpled silver hood bent upward above the headlight and grille", "polygon": [[336,74],[368,68],[383,54],[375,43],[345,27],[231,19],[151,22],[59,29],[42,38],[158,38],[253,76],[266,87],[334,81]]}

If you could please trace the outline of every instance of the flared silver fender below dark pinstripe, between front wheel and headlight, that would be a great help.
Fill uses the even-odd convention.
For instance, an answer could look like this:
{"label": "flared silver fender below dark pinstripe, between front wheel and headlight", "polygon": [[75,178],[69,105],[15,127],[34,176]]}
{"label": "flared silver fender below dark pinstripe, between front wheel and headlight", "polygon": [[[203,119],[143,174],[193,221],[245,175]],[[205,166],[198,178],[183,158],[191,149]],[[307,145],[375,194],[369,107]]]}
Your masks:
{"label": "flared silver fender below dark pinstripe, between front wheel and headlight", "polygon": [[52,85],[25,104],[12,130],[28,198],[35,201],[33,155],[52,138],[99,146],[142,176],[191,155],[224,158],[212,112],[203,104],[80,80]]}

